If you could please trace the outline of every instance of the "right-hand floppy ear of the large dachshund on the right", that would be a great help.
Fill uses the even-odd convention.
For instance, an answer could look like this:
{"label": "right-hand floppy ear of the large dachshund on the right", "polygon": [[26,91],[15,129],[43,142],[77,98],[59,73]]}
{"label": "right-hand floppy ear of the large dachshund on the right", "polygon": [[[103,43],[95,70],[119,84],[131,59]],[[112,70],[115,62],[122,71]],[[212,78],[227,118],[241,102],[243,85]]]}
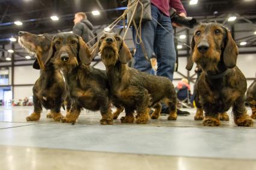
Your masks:
{"label": "right-hand floppy ear of the large dachshund on the right", "polygon": [[237,63],[238,49],[237,49],[236,42],[232,38],[231,33],[226,28],[225,28],[225,31],[226,31],[226,46],[224,47],[224,51],[223,51],[223,61],[226,67],[233,68],[236,66],[236,63]]}

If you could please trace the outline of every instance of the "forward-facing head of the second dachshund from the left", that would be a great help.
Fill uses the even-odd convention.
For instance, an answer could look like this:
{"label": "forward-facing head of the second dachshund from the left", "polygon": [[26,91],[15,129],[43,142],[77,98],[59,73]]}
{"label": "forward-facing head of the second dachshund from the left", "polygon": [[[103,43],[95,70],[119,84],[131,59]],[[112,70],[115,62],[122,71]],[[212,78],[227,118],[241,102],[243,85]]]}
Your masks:
{"label": "forward-facing head of the second dachshund from the left", "polygon": [[69,32],[58,33],[52,38],[48,59],[54,58],[54,64],[70,72],[78,64],[90,64],[90,50],[83,39]]}

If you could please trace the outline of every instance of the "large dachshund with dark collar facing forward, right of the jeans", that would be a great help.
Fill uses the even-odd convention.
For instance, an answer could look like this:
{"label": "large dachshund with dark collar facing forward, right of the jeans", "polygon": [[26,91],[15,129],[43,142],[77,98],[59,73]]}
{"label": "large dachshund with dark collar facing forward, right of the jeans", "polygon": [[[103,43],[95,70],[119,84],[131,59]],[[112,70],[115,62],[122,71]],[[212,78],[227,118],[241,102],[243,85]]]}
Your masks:
{"label": "large dachshund with dark collar facing forward, right of the jeans", "polygon": [[236,67],[238,49],[228,29],[218,23],[202,23],[191,47],[186,68],[191,70],[193,62],[202,68],[196,90],[205,111],[204,126],[219,126],[219,113],[231,106],[237,126],[253,126],[245,109],[246,79]]}

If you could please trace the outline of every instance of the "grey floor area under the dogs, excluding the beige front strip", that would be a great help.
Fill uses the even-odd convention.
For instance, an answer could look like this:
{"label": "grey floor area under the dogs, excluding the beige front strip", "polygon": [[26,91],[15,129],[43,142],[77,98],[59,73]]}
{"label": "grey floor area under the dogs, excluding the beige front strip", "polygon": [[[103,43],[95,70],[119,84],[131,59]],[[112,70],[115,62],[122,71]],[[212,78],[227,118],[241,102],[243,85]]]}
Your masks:
{"label": "grey floor area under the dogs, excluding the beige front strip", "polygon": [[[78,122],[72,125],[46,118],[46,111],[43,111],[39,121],[27,122],[25,117],[33,111],[31,106],[1,107],[0,151],[6,154],[0,154],[0,163],[8,156],[8,148],[22,150],[21,147],[24,151],[27,151],[25,148],[39,150],[36,153],[40,153],[42,148],[65,150],[70,154],[81,151],[83,154],[89,152],[89,155],[139,154],[157,156],[157,159],[161,156],[163,159],[183,157],[235,160],[245,164],[247,161],[246,165],[251,163],[249,169],[256,169],[256,124],[254,127],[237,127],[229,112],[230,121],[222,121],[219,127],[204,127],[202,121],[193,120],[195,109],[184,110],[191,115],[178,117],[176,121],[168,121],[166,116],[161,116],[159,120],[150,120],[146,125],[121,124],[118,119],[113,126],[102,126],[99,124],[99,112],[83,111]],[[251,114],[249,109],[248,114]],[[234,166],[233,162],[231,164]],[[154,165],[149,167],[153,168]],[[233,169],[239,167],[237,165]],[[10,169],[9,166],[6,168]],[[228,168],[225,166],[224,169]]]}

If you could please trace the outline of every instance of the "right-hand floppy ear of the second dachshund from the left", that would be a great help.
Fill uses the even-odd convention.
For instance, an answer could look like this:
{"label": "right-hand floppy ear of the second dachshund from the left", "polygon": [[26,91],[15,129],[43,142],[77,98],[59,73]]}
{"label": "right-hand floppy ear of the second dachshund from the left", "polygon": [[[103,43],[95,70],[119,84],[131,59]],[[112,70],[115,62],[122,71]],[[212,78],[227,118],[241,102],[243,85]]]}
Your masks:
{"label": "right-hand floppy ear of the second dachshund from the left", "polygon": [[91,63],[91,53],[90,53],[90,50],[89,50],[89,47],[86,45],[86,43],[84,42],[84,40],[79,37],[79,52],[78,52],[78,55],[79,55],[79,58],[80,58],[80,61],[83,62],[84,64],[86,65],[90,65]]}

